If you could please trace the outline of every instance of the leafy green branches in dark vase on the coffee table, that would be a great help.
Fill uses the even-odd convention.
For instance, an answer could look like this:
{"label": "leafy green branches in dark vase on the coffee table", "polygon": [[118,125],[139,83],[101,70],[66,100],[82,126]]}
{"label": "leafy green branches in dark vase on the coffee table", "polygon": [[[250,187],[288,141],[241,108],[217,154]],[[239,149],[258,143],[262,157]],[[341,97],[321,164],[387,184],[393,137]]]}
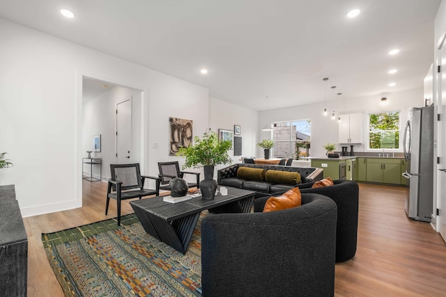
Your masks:
{"label": "leafy green branches in dark vase on the coffee table", "polygon": [[204,200],[212,200],[217,189],[217,181],[213,179],[214,168],[217,165],[232,162],[228,154],[231,149],[231,141],[219,141],[217,133],[211,129],[206,130],[202,138],[194,137],[194,144],[189,147],[180,147],[178,156],[185,156],[184,168],[204,169],[204,179],[200,182],[201,197]]}

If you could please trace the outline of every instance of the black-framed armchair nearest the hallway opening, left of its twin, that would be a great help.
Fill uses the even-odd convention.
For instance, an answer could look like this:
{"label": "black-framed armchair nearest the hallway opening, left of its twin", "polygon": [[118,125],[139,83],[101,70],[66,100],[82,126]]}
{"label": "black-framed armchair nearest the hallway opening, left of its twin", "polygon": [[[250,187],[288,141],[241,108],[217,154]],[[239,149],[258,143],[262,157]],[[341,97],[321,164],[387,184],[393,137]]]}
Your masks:
{"label": "black-framed armchair nearest the hallway opening, left of its twin", "polygon": [[[159,177],[141,175],[139,163],[110,164],[110,172],[112,173],[112,178],[108,179],[105,215],[107,216],[109,211],[110,198],[116,200],[118,226],[121,225],[121,200],[132,198],[141,199],[144,196],[160,195],[161,179]],[[155,179],[155,190],[144,188],[144,181],[146,178]]]}

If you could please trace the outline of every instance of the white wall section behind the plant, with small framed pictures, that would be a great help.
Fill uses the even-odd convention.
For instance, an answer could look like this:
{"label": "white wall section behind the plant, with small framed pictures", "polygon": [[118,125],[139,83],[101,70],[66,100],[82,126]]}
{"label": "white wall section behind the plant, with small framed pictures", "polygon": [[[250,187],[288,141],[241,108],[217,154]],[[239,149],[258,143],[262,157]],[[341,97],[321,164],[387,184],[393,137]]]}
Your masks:
{"label": "white wall section behind the plant, with small framed pictures", "polygon": [[[240,136],[242,137],[242,156],[256,156],[256,143],[259,142],[257,137],[260,131],[257,126],[258,118],[258,111],[210,97],[210,129],[217,133],[218,129],[233,131],[234,125],[239,125]],[[234,156],[233,154],[234,151],[230,150],[229,156],[232,157],[233,163],[240,163],[239,159],[241,156]],[[217,169],[224,167],[217,166],[214,175],[217,174]]]}

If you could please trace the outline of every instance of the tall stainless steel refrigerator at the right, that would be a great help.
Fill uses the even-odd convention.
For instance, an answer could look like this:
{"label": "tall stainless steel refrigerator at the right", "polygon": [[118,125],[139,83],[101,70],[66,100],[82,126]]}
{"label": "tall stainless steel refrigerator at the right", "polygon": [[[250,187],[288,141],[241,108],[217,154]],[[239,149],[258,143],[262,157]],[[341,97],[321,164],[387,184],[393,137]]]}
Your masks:
{"label": "tall stainless steel refrigerator at the right", "polygon": [[403,136],[408,179],[406,214],[414,220],[431,221],[433,203],[433,106],[415,107]]}

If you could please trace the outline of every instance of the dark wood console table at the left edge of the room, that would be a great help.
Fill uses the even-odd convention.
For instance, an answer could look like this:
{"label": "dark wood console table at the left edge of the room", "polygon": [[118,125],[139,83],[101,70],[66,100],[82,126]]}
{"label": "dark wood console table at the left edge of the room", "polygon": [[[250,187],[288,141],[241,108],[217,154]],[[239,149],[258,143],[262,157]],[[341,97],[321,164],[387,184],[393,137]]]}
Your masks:
{"label": "dark wood console table at the left edge of the room", "polygon": [[15,186],[0,186],[0,295],[26,296],[28,237]]}

